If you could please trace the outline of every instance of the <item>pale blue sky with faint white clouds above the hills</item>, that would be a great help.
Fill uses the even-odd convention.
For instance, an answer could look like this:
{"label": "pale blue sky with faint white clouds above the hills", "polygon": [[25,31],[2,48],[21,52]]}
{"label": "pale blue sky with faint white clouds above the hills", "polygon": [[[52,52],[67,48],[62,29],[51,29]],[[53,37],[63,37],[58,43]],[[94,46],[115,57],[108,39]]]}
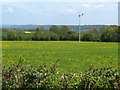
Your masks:
{"label": "pale blue sky with faint white clouds above the hills", "polygon": [[[97,1],[97,0],[96,0]],[[118,24],[118,2],[24,1],[0,4],[2,24],[8,25],[82,25]]]}

